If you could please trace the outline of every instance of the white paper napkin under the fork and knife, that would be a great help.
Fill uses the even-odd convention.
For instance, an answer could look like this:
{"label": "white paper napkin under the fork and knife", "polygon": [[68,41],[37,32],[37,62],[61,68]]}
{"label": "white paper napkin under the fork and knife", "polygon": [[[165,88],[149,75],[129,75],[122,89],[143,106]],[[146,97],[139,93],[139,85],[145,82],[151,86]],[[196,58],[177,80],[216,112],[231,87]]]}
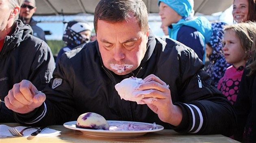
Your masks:
{"label": "white paper napkin under the fork and knife", "polygon": [[[0,125],[0,137],[11,137],[11,133],[9,132],[8,128],[9,126],[6,125]],[[26,126],[16,126],[17,130],[20,132],[22,129],[26,128]],[[30,136],[32,132],[37,131],[35,128],[28,128],[24,130],[23,135],[24,136]],[[53,137],[53,136],[58,136],[61,131],[59,130],[54,130],[50,128],[45,128],[42,132],[40,132],[37,137]]]}

